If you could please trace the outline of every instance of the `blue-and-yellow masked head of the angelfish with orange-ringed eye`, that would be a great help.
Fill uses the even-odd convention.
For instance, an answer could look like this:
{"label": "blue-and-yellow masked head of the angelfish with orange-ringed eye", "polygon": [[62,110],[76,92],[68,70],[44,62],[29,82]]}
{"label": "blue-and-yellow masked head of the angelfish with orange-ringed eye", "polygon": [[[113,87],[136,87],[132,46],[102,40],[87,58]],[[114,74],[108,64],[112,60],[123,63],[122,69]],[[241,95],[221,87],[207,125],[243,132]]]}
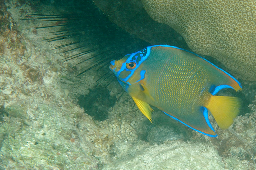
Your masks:
{"label": "blue-and-yellow masked head of the angelfish with orange-ringed eye", "polygon": [[147,57],[147,48],[143,48],[138,52],[125,55],[120,60],[110,62],[109,69],[115,74],[126,92],[129,86],[139,84],[145,79],[146,70],[143,69],[143,62]]}

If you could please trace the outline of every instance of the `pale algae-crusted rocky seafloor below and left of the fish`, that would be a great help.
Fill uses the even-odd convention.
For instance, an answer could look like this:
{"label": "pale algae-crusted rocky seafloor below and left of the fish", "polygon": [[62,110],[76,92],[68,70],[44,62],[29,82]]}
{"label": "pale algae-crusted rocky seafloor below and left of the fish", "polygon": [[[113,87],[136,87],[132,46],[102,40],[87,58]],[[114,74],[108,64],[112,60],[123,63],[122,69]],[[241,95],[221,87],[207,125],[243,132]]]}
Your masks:
{"label": "pale algae-crusted rocky seafloor below and left of the fish", "polygon": [[156,108],[151,124],[127,94],[110,100],[120,96],[117,81],[101,89],[109,92],[113,106],[106,108],[108,117],[98,121],[77,98],[97,92],[99,71],[75,77],[74,63],[61,61],[65,54],[51,50],[58,42],[42,41],[49,31],[32,29],[40,21],[19,20],[35,8],[43,13],[54,7],[0,3],[1,21],[7,25],[0,35],[0,169],[256,168],[255,83],[240,80],[245,107],[230,129],[242,139],[221,130],[212,117],[216,138]]}

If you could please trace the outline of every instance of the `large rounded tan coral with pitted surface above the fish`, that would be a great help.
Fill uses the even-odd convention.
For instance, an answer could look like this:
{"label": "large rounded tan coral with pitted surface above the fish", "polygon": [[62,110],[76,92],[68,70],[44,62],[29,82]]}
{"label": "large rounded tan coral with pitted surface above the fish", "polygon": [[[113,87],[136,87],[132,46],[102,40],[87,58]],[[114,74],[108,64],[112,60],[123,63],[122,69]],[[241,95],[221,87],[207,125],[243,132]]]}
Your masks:
{"label": "large rounded tan coral with pitted surface above the fish", "polygon": [[141,0],[149,16],[180,33],[196,53],[256,80],[254,0]]}

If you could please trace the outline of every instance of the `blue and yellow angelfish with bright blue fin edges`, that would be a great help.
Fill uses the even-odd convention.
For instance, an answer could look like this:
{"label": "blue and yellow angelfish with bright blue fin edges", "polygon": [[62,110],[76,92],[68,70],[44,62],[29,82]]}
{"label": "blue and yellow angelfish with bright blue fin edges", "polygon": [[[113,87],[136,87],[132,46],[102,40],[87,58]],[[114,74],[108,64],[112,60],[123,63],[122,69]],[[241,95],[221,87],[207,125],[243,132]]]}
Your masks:
{"label": "blue and yellow angelfish with bright blue fin edges", "polygon": [[150,105],[197,132],[217,137],[209,114],[221,129],[228,129],[240,112],[240,98],[217,93],[225,88],[240,91],[241,83],[188,50],[149,46],[111,61],[109,68],[151,123]]}

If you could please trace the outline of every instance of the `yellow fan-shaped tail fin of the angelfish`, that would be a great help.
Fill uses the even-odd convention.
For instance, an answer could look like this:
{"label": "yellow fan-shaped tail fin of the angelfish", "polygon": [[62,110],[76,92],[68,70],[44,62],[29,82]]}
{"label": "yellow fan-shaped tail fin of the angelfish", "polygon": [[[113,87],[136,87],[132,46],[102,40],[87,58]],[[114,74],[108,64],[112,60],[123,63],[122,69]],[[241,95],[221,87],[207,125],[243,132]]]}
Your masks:
{"label": "yellow fan-shaped tail fin of the angelfish", "polygon": [[212,96],[205,107],[210,110],[221,129],[228,129],[240,111],[241,99],[228,96]]}

